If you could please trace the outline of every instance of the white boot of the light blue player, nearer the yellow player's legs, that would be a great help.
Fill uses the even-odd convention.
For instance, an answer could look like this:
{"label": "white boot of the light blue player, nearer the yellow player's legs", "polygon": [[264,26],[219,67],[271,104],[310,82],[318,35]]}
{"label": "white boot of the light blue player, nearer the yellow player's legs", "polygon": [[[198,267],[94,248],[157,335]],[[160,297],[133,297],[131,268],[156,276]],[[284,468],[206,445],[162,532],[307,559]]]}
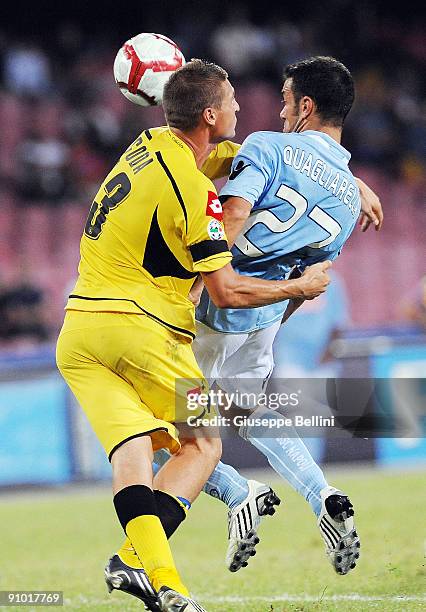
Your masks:
{"label": "white boot of the light blue player, nearer the yellow player's legs", "polygon": [[257,529],[263,516],[272,516],[274,506],[279,506],[280,498],[274,491],[261,482],[249,480],[249,492],[244,501],[228,512],[228,550],[226,566],[230,572],[247,567],[250,557],[256,554],[259,543]]}

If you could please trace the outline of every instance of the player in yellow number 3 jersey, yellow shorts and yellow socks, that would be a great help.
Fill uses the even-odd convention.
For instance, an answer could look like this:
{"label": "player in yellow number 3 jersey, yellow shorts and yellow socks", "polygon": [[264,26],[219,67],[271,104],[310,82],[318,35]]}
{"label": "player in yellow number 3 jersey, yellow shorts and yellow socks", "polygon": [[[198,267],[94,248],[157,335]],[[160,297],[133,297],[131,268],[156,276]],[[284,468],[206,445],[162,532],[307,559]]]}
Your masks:
{"label": "player in yellow number 3 jersey, yellow shorts and yellow socks", "polygon": [[[92,204],[57,363],[112,464],[127,538],[107,566],[109,588],[137,594],[150,610],[191,612],[202,608],[189,598],[167,537],[214,469],[221,444],[202,428],[179,439],[176,427],[185,421],[176,410],[186,393],[206,385],[191,349],[189,291],[200,273],[220,307],[312,299],[326,290],[330,264],[290,281],[236,274],[216,190],[200,171],[214,146],[235,134],[239,107],[226,72],[189,62],[170,78],[163,106],[168,127],[135,140]],[[200,406],[203,412],[210,414]],[[172,457],[153,479],[159,448]]]}

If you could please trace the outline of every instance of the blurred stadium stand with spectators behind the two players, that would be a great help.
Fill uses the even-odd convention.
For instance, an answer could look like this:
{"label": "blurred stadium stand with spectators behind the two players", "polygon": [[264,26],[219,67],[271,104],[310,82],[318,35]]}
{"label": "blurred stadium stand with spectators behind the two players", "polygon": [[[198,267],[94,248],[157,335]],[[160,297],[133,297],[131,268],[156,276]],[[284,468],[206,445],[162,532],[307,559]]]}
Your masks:
{"label": "blurred stadium stand with spectators behind the two players", "polygon": [[[401,328],[399,308],[426,273],[426,30],[421,15],[410,17],[402,6],[353,0],[332,0],[327,11],[312,6],[309,14],[297,3],[283,7],[278,2],[269,3],[268,11],[255,2],[232,3],[228,13],[219,6],[201,11],[191,0],[173,13],[168,3],[147,0],[143,6],[129,1],[118,14],[112,2],[104,2],[101,12],[76,2],[61,14],[47,2],[37,8],[40,27],[35,31],[31,12],[21,11],[20,4],[9,9],[7,32],[0,26],[0,308],[2,296],[23,282],[40,290],[49,340],[25,333],[22,342],[0,338],[2,440],[7,432],[14,439],[18,406],[35,427],[16,446],[23,454],[28,439],[48,423],[59,419],[57,431],[70,423],[71,400],[54,374],[52,347],[75,279],[84,221],[117,155],[141,130],[164,122],[161,109],[131,105],[113,83],[117,49],[141,31],[164,33],[187,58],[206,57],[229,69],[241,106],[239,142],[255,130],[282,129],[286,63],[332,54],[353,71],[357,99],[343,144],[352,152],[354,173],[379,194],[385,224],[379,234],[356,229],[335,264],[354,327],[348,331],[347,354],[357,335],[368,337],[362,358],[370,364],[374,338],[403,329],[397,332],[400,344],[411,347],[417,338],[413,359],[423,364],[424,376],[424,352],[416,352],[426,350],[424,330],[409,324]],[[31,398],[37,396],[45,399],[34,404]],[[60,407],[49,412],[58,397]],[[32,419],[29,406],[46,420]],[[91,439],[81,423],[73,428],[80,442]],[[68,448],[54,442],[54,431],[54,448],[46,443],[46,457]],[[0,473],[6,473],[2,468],[13,463],[6,448],[12,452],[12,447],[0,446]],[[96,453],[92,457],[91,442],[81,442],[82,448],[77,459],[73,452],[66,455],[69,464],[52,463],[53,481],[107,473],[93,458]],[[21,455],[13,456],[21,461]],[[35,473],[16,474],[15,481],[34,478]]]}

